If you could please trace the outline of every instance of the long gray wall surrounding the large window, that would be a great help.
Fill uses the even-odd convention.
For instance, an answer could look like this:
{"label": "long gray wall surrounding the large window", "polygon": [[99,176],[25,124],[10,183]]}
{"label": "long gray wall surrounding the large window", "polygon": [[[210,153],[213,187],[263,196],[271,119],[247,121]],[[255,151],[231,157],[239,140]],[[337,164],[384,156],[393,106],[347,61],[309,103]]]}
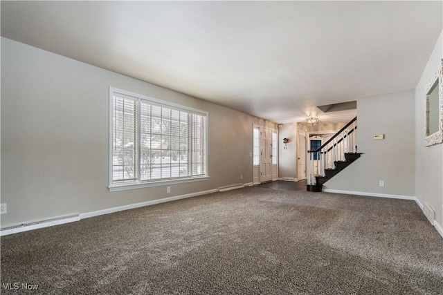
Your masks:
{"label": "long gray wall surrounding the large window", "polygon": [[[1,226],[252,182],[252,126],[275,124],[1,39]],[[110,193],[109,86],[209,112],[210,180]],[[243,175],[243,180],[240,180]]]}

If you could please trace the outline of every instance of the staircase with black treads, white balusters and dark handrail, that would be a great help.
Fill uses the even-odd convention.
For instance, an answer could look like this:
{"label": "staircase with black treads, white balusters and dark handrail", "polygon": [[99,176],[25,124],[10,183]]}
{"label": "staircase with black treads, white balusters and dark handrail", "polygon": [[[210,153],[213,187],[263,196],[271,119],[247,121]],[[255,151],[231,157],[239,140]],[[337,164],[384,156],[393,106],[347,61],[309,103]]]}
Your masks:
{"label": "staircase with black treads, white balusters and dark handrail", "polygon": [[360,158],[357,153],[357,117],[315,151],[307,151],[307,191],[322,191],[323,184]]}

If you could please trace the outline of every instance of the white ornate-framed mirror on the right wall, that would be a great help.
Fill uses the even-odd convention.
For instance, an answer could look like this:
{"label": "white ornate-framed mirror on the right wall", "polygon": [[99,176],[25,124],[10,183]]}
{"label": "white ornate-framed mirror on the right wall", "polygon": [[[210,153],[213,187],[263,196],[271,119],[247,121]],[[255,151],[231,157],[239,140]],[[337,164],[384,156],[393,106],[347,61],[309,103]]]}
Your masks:
{"label": "white ornate-framed mirror on the right wall", "polygon": [[426,130],[425,146],[443,142],[443,59],[438,69],[426,86]]}

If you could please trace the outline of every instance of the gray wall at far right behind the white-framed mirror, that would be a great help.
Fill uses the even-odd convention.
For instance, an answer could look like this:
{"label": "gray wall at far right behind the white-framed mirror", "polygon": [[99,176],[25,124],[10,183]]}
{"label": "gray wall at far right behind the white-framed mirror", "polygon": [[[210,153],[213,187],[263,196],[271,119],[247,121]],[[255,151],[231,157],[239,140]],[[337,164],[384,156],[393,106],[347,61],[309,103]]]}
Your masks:
{"label": "gray wall at far right behind the white-framed mirror", "polygon": [[428,202],[435,209],[435,220],[443,227],[443,144],[424,147],[426,84],[443,58],[443,37],[440,34],[428,59],[422,77],[415,88],[415,186],[416,196],[422,204]]}

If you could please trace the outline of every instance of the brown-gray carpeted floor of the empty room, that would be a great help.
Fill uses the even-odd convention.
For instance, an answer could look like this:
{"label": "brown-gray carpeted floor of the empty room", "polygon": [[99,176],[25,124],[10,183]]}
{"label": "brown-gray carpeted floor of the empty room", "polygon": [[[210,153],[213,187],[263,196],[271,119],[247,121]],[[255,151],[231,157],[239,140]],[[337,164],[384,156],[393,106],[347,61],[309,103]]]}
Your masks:
{"label": "brown-gray carpeted floor of the empty room", "polygon": [[1,283],[5,294],[22,283],[33,294],[443,294],[443,240],[410,200],[246,187],[4,236]]}

